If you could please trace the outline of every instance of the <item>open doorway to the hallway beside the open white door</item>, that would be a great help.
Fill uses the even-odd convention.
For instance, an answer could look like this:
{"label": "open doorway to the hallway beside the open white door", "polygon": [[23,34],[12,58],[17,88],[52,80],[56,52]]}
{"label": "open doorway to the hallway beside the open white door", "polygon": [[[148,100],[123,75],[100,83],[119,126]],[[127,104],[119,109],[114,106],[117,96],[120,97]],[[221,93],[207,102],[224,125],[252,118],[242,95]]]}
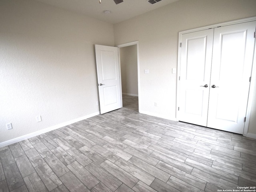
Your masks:
{"label": "open doorway to the hallway beside the open white door", "polygon": [[[118,45],[123,107],[140,112],[138,42]],[[136,103],[136,105],[134,105]]]}

